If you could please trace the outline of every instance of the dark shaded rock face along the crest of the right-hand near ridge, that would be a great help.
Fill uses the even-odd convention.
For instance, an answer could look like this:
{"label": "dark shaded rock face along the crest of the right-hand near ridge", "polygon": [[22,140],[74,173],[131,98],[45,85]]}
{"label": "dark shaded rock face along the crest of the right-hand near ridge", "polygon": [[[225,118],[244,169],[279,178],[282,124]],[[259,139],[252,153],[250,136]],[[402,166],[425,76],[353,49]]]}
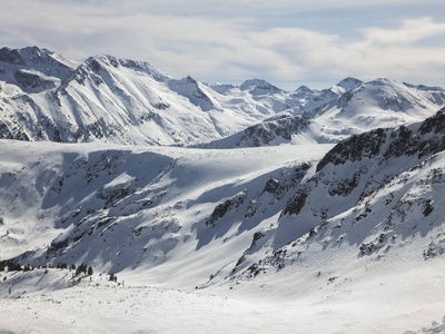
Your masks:
{"label": "dark shaded rock face along the crest of the right-hand near ridge", "polygon": [[[305,206],[306,198],[314,189],[326,188],[332,197],[348,197],[354,195],[353,203],[366,197],[375,190],[378,181],[373,175],[375,169],[382,169],[380,185],[398,175],[399,169],[392,171],[383,166],[389,161],[409,158],[409,164],[403,169],[414,167],[419,160],[445,150],[445,112],[436,115],[421,124],[400,126],[396,129],[376,129],[353,136],[340,141],[317,165],[317,173],[310,180],[301,185],[289,200],[284,215],[298,215]],[[395,164],[395,163],[394,163]],[[342,171],[345,168],[348,171]],[[334,176],[332,171],[334,170]]]}

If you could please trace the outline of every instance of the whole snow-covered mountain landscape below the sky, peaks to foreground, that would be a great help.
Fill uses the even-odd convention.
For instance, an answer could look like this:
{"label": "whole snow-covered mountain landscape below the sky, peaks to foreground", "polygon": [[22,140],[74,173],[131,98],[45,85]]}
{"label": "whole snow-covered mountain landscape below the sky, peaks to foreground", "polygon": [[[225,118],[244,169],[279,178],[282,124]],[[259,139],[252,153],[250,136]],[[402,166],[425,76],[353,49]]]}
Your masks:
{"label": "whole snow-covered mountain landscape below the sky, peaks to foreground", "polygon": [[0,49],[0,333],[445,333],[444,105]]}

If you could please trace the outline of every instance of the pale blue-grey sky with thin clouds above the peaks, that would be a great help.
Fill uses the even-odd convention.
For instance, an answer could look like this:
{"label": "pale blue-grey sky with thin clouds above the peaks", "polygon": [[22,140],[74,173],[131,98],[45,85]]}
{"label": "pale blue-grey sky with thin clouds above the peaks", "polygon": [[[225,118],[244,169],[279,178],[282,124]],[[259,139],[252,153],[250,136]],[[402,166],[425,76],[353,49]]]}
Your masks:
{"label": "pale blue-grey sky with thin clouds above the peaks", "polygon": [[445,87],[444,0],[1,0],[0,47],[111,55],[175,78],[284,89]]}

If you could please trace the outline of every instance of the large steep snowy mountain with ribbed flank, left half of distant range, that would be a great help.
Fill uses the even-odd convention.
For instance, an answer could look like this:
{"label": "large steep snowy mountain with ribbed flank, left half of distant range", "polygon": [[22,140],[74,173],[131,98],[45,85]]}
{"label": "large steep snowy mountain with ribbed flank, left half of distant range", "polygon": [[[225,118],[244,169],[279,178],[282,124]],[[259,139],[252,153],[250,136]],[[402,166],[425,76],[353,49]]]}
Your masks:
{"label": "large steep snowy mountain with ribbed flank, left half of distant range", "polygon": [[179,146],[221,138],[275,114],[249,92],[238,99],[148,62],[98,56],[76,66],[37,47],[0,50],[2,138]]}

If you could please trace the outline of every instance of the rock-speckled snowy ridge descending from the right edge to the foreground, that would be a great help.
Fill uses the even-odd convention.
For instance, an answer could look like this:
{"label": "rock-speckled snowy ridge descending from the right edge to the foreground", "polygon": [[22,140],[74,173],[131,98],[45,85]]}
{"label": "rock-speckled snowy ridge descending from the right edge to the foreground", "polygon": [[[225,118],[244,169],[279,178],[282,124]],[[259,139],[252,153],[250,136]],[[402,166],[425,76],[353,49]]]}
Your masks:
{"label": "rock-speckled snowy ridge descending from the right edge to the foreground", "polygon": [[353,136],[296,187],[278,224],[255,234],[231,281],[308,266],[314,258],[323,271],[329,267],[320,264],[324,257],[347,266],[360,258],[439,256],[444,195],[445,108],[423,122]]}

